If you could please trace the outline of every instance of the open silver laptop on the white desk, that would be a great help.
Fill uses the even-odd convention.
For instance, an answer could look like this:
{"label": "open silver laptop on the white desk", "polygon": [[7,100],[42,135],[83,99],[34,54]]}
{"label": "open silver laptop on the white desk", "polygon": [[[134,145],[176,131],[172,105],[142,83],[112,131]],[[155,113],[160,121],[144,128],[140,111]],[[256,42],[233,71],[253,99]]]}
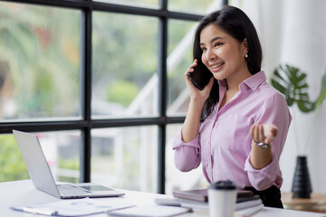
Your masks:
{"label": "open silver laptop on the white desk", "polygon": [[99,184],[55,184],[38,138],[34,134],[18,130],[13,130],[13,133],[28,173],[38,190],[62,199],[124,195],[124,193]]}

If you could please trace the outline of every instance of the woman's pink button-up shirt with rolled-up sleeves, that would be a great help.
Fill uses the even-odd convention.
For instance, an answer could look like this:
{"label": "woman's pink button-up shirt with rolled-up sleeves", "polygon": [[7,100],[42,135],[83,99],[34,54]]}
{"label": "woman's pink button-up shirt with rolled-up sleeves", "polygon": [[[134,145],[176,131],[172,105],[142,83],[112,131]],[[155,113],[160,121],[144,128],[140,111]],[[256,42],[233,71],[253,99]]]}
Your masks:
{"label": "woman's pink button-up shirt with rolled-up sleeves", "polygon": [[[218,82],[221,103],[227,87],[225,80]],[[253,186],[258,191],[272,185],[280,188],[279,159],[292,120],[283,95],[266,82],[264,71],[259,71],[244,80],[233,99],[217,111],[219,103],[199,124],[199,133],[191,142],[185,143],[181,130],[178,132],[173,142],[177,168],[187,172],[202,163],[209,183],[232,180],[241,188]],[[256,122],[278,127],[272,144],[273,161],[262,169],[255,169],[250,162],[249,130]]]}

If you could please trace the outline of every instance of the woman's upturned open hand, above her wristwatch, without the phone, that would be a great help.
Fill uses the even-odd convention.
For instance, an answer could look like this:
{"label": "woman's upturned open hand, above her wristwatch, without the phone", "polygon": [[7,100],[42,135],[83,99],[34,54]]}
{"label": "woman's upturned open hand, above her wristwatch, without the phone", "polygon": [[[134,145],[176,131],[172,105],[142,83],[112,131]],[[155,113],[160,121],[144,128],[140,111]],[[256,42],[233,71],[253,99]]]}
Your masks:
{"label": "woman's upturned open hand, above her wristwatch, without the phone", "polygon": [[264,144],[271,144],[277,135],[277,127],[273,124],[254,123],[250,128],[250,136],[254,142],[262,142]]}

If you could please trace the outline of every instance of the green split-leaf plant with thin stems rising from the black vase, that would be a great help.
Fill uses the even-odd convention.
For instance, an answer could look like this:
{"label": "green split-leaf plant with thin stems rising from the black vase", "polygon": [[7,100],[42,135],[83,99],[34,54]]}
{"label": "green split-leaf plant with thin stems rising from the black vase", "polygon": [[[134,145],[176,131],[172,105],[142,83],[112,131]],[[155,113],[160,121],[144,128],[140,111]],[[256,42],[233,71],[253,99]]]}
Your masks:
{"label": "green split-leaf plant with thin stems rising from the black vase", "polygon": [[[326,97],[326,72],[321,79],[321,92],[315,101],[311,101],[309,98],[308,88],[309,85],[305,80],[307,74],[299,70],[296,67],[290,66],[288,64],[280,65],[273,71],[272,85],[276,90],[283,93],[286,102],[289,107],[297,105],[303,113],[309,113],[314,111],[314,118],[312,121],[312,126],[310,127],[309,134],[305,146],[303,147],[303,153],[306,153],[308,142],[312,135],[312,128],[316,123],[318,115],[321,111],[321,104]],[[295,121],[295,113],[293,112],[293,119]],[[298,153],[300,152],[299,139],[297,133],[297,127],[294,122],[294,131],[296,137],[296,146]]]}

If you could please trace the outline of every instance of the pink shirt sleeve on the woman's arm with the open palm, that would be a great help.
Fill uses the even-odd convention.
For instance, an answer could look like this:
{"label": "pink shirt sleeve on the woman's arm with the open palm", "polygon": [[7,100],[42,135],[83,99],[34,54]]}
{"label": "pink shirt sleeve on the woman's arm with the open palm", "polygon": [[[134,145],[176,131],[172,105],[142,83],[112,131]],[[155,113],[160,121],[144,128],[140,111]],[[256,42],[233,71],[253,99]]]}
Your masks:
{"label": "pink shirt sleeve on the woman's arm with the open palm", "polygon": [[258,191],[267,189],[273,184],[280,188],[283,183],[279,159],[283,151],[291,120],[290,111],[282,94],[274,94],[272,99],[266,99],[264,101],[261,113],[255,122],[274,124],[278,127],[278,133],[271,146],[273,160],[269,165],[266,165],[262,169],[255,169],[250,162],[250,155],[245,160],[245,171],[248,174],[249,182]]}

